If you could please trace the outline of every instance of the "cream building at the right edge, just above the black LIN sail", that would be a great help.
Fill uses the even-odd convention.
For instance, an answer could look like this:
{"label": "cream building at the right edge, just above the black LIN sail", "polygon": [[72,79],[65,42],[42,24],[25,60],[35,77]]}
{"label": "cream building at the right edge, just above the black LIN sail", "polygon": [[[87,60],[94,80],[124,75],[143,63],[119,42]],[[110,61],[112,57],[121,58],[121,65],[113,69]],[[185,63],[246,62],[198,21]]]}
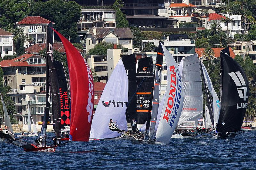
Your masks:
{"label": "cream building at the right edge, just above the black LIN sail", "polygon": [[240,55],[243,60],[246,56],[250,56],[253,63],[256,64],[256,40],[251,41],[236,41],[235,43],[228,44],[229,47],[235,48],[236,55]]}

